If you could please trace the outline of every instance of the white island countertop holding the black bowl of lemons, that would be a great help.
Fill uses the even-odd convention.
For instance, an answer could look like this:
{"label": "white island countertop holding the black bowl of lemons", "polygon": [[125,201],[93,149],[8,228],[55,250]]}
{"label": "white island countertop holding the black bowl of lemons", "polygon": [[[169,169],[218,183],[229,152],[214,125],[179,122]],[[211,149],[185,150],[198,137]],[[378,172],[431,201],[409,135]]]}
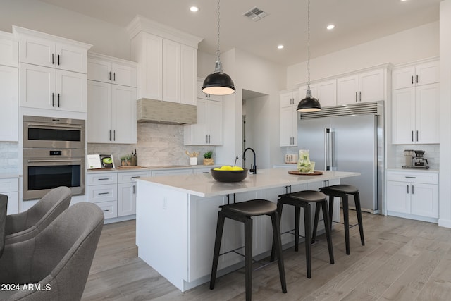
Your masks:
{"label": "white island countertop holding the black bowl of lemons", "polygon": [[[211,173],[190,175],[174,175],[161,177],[147,177],[137,179],[138,183],[152,183],[173,190],[186,192],[199,197],[214,197],[230,193],[247,192],[264,188],[278,188],[288,185],[319,182],[359,176],[360,173],[344,171],[324,171],[318,176],[295,176],[288,174],[293,168],[269,168],[257,170],[257,175],[249,174],[245,180],[235,183],[223,183],[214,180]],[[139,190],[138,190],[139,191]]]}

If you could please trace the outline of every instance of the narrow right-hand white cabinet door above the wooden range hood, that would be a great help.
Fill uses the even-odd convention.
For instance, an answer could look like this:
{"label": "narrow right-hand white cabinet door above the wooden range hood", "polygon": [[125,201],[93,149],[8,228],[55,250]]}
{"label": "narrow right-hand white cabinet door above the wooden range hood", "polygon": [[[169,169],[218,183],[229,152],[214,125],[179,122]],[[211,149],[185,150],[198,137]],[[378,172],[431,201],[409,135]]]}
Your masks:
{"label": "narrow right-hand white cabinet door above the wooden range hood", "polygon": [[180,48],[180,102],[196,105],[197,50],[182,45]]}

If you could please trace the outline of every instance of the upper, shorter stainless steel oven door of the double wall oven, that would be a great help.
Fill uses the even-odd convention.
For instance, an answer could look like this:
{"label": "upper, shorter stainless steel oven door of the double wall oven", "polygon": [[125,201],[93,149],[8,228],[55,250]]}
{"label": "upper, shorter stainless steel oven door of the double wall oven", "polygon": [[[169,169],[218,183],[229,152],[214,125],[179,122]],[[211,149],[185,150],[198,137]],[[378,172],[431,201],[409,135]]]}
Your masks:
{"label": "upper, shorter stainless steel oven door of the double wall oven", "polygon": [[82,119],[23,116],[24,148],[85,148]]}

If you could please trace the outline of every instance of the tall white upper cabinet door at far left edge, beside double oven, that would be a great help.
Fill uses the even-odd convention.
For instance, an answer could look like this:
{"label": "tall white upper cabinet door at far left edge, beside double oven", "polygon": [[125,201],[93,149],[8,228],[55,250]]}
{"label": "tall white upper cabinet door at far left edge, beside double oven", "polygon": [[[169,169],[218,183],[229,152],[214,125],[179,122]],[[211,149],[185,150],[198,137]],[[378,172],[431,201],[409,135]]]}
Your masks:
{"label": "tall white upper cabinet door at far left edge, beside double oven", "polygon": [[18,141],[17,76],[16,67],[0,66],[0,141]]}

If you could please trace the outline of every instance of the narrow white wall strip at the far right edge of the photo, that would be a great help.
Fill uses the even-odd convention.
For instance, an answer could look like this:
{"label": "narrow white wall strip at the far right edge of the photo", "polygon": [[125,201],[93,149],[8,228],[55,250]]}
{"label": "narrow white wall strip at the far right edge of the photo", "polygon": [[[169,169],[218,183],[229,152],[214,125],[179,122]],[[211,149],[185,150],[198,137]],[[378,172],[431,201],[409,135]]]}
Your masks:
{"label": "narrow white wall strip at the far right edge of the photo", "polygon": [[451,228],[451,0],[440,2],[440,177],[438,224]]}

